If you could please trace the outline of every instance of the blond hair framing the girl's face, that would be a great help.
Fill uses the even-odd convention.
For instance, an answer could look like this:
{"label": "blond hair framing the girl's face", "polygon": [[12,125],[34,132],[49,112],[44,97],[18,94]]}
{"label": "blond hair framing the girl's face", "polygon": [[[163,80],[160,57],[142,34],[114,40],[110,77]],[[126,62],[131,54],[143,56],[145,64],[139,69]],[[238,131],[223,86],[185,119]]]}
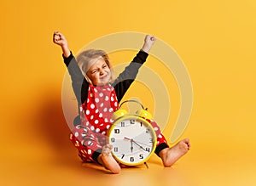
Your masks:
{"label": "blond hair framing the girl's face", "polygon": [[87,76],[87,72],[90,69],[90,63],[91,62],[96,62],[96,59],[102,57],[106,64],[108,65],[108,68],[110,69],[111,72],[111,82],[113,81],[113,70],[112,70],[112,66],[110,63],[110,60],[108,58],[108,54],[103,51],[103,50],[96,50],[96,49],[89,49],[89,50],[85,50],[83,52],[81,52],[78,56],[77,56],[77,61],[78,61],[78,65],[80,70],[82,71],[82,74],[84,75],[85,79],[87,80],[87,82],[89,82],[90,84],[90,78]]}

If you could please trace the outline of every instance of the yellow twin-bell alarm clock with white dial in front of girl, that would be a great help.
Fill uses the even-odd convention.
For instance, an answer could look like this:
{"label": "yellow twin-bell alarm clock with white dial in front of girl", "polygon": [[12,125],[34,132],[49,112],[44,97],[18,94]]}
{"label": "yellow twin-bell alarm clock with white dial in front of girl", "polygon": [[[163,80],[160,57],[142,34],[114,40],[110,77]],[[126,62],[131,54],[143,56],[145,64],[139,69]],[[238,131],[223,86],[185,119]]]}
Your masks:
{"label": "yellow twin-bell alarm clock with white dial in front of girl", "polygon": [[[139,102],[127,100],[126,102]],[[126,110],[116,110],[113,113],[113,125],[108,130],[108,144],[113,145],[112,155],[116,161],[127,165],[137,166],[148,161],[156,147],[156,134],[154,128],[146,120],[152,119],[151,114],[144,109],[137,110],[135,115],[128,114]]]}

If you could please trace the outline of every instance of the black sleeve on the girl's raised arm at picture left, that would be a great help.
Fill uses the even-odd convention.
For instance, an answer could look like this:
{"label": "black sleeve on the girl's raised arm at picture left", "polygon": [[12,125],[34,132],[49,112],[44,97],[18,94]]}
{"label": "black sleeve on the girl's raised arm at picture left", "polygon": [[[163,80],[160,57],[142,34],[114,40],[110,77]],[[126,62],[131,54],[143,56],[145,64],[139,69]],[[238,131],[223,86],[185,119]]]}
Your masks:
{"label": "black sleeve on the girl's raised arm at picture left", "polygon": [[87,99],[89,83],[85,80],[72,53],[67,58],[64,55],[62,55],[62,57],[67,66],[68,73],[71,76],[73,92],[78,100],[78,104],[83,104]]}

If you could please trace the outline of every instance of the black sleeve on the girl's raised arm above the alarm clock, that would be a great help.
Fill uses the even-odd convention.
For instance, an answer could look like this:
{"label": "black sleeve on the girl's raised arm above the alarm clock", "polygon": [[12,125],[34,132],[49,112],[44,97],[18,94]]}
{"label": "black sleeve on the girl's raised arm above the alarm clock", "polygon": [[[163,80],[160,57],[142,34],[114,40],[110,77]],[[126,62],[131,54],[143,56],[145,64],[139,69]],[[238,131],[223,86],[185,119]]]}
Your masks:
{"label": "black sleeve on the girl's raised arm above the alarm clock", "polygon": [[125,70],[118,76],[118,78],[113,82],[113,88],[115,90],[118,101],[120,101],[131,83],[134,82],[139,68],[146,61],[148,54],[143,50],[139,51],[136,57],[131,61],[130,65],[125,67]]}

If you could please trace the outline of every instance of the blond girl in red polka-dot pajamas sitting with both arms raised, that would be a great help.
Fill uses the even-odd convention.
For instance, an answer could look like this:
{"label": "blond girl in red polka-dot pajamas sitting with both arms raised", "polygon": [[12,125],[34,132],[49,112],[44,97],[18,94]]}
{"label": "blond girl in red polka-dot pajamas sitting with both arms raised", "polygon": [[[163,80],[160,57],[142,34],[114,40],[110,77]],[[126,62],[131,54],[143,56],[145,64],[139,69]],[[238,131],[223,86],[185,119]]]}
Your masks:
{"label": "blond girl in red polka-dot pajamas sitting with both arms raised", "polygon": [[[106,143],[106,134],[111,126],[111,116],[119,108],[119,101],[134,82],[139,68],[148,57],[155,37],[147,35],[143,48],[125,70],[113,81],[112,67],[108,54],[102,50],[86,50],[77,59],[68,48],[67,39],[56,31],[53,42],[60,45],[64,63],[72,79],[73,91],[79,104],[79,118],[74,121],[70,139],[82,161],[96,161],[113,173],[120,172],[120,166],[111,155],[112,146]],[[151,121],[157,135],[154,151],[164,166],[172,166],[190,149],[189,139],[185,138],[169,148],[160,127]]]}

